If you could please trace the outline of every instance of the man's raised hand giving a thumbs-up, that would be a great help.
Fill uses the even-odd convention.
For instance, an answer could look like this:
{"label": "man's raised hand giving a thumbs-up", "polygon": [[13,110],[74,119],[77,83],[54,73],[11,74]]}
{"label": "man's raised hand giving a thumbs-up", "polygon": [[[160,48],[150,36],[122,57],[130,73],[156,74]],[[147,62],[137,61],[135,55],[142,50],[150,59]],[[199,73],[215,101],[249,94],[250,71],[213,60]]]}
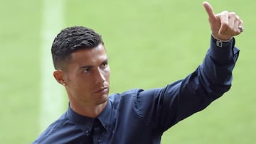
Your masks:
{"label": "man's raised hand giving a thumbs-up", "polygon": [[234,12],[223,11],[215,14],[208,2],[203,2],[208,13],[208,20],[212,34],[218,40],[230,40],[235,35],[242,33],[242,20]]}

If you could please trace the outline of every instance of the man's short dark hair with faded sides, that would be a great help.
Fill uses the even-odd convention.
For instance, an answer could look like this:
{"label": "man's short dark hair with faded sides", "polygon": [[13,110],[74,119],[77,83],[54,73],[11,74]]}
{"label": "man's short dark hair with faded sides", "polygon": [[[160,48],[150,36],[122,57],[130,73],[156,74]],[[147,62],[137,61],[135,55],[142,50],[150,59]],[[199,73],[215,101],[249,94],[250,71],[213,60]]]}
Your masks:
{"label": "man's short dark hair with faded sides", "polygon": [[60,31],[53,41],[51,53],[55,70],[64,68],[63,63],[70,54],[82,48],[95,48],[104,45],[101,35],[83,26],[68,27]]}

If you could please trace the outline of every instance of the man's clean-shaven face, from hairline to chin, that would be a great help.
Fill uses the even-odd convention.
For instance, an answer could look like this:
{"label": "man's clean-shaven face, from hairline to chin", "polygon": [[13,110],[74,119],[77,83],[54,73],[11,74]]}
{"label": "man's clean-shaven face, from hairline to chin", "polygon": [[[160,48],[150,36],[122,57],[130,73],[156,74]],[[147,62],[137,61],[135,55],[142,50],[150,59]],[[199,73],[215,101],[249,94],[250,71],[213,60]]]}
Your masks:
{"label": "man's clean-shaven face, from hairline to chin", "polygon": [[104,45],[73,52],[64,72],[70,102],[97,106],[107,101],[110,90],[110,67]]}

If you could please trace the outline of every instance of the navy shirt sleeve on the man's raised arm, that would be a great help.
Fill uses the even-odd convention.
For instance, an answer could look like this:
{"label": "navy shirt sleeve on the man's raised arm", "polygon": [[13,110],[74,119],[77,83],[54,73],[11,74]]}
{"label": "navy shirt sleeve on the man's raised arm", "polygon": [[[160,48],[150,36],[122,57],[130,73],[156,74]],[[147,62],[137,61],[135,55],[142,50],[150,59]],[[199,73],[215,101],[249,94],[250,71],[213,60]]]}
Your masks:
{"label": "navy shirt sleeve on the man's raised arm", "polygon": [[230,89],[238,54],[234,38],[222,42],[211,37],[206,57],[194,72],[164,88],[137,94],[139,115],[164,132],[183,118],[205,109]]}

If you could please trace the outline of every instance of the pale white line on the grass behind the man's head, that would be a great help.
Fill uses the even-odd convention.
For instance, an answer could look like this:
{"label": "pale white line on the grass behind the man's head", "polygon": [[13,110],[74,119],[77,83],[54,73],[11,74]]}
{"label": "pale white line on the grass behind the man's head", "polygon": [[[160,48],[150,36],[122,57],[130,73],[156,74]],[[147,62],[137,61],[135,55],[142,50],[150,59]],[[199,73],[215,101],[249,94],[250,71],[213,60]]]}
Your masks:
{"label": "pale white line on the grass behind the man's head", "polygon": [[43,0],[41,29],[41,116],[40,131],[63,113],[63,87],[53,77],[50,48],[63,26],[63,0]]}

